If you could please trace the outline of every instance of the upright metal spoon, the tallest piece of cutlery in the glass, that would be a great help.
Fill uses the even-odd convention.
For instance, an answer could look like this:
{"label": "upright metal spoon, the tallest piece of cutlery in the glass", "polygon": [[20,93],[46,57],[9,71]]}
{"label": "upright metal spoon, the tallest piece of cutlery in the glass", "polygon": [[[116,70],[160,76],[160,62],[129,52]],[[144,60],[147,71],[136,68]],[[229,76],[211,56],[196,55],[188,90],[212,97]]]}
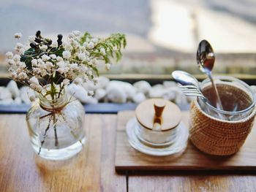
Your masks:
{"label": "upright metal spoon, the tallest piece of cutlery in the glass", "polygon": [[217,90],[217,87],[214,83],[214,79],[211,76],[211,70],[214,68],[214,61],[215,61],[215,55],[214,50],[211,47],[210,43],[206,40],[202,40],[197,49],[197,64],[199,66],[199,69],[206,73],[211,80],[211,85],[214,88],[214,92],[217,96],[217,108],[220,110],[223,110],[222,107],[222,101],[219,98],[219,92]]}

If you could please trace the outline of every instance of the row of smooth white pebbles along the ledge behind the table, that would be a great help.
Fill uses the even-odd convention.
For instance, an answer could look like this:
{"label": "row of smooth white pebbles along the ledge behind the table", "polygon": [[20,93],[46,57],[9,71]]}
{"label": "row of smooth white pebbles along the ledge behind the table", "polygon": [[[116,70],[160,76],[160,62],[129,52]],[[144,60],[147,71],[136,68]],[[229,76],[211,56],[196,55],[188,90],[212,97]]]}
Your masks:
{"label": "row of smooth white pebbles along the ledge behind the table", "polygon": [[[94,96],[88,96],[89,91],[83,85],[70,84],[67,87],[67,93],[75,96],[82,103],[97,104],[98,101],[125,103],[133,101],[140,103],[148,98],[164,98],[169,101],[174,101],[176,104],[187,104],[195,98],[184,96],[181,89],[178,88],[176,82],[165,81],[162,84],[157,84],[151,87],[146,81],[138,81],[132,86],[129,82],[121,82],[117,80],[110,81],[108,78],[99,77],[99,84],[94,85],[93,82],[87,83],[86,88],[94,90]],[[31,104],[29,96],[31,94],[36,98],[29,87],[23,86],[19,91],[15,88],[17,84],[12,81],[8,84],[8,88],[0,87],[0,100],[4,104]],[[99,88],[100,87],[100,88]],[[256,86],[251,86],[256,93]],[[12,92],[11,92],[11,91]],[[33,93],[30,93],[30,92]],[[20,96],[18,96],[20,95]],[[16,98],[12,100],[13,98]]]}

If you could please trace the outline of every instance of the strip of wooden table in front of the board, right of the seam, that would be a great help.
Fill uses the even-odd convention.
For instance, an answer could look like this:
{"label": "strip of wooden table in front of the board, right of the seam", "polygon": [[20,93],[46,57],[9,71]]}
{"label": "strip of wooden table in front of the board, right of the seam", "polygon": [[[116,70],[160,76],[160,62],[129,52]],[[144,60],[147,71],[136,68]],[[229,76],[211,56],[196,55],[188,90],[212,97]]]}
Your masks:
{"label": "strip of wooden table in front of the board, right of the seam", "polygon": [[252,175],[134,175],[129,176],[129,192],[254,192],[255,182]]}

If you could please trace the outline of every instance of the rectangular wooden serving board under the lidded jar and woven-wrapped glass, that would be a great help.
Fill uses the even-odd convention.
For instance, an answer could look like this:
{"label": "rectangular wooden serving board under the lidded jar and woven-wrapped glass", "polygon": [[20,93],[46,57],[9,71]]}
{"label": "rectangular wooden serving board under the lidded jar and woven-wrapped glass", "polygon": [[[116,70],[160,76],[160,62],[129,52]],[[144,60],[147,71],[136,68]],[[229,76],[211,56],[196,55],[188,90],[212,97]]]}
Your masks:
{"label": "rectangular wooden serving board under the lidded jar and woven-wrapped glass", "polygon": [[[129,145],[125,131],[126,123],[135,112],[118,112],[116,134],[116,171],[127,170],[256,170],[255,126],[246,142],[235,155],[214,156],[200,152],[188,143],[185,152],[178,156],[156,157],[146,155]],[[188,127],[189,112],[182,112],[182,121]]]}

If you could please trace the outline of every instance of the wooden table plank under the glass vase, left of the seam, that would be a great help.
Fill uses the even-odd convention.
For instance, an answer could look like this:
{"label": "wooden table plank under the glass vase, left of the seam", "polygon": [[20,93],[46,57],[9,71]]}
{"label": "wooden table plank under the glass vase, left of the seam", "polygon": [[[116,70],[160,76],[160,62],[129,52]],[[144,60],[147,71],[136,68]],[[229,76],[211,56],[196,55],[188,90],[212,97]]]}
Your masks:
{"label": "wooden table plank under the glass vase, left of the seam", "polygon": [[0,115],[0,191],[125,191],[125,176],[111,164],[115,125],[115,115],[86,115],[83,150],[67,161],[45,161],[31,148],[25,115]]}

